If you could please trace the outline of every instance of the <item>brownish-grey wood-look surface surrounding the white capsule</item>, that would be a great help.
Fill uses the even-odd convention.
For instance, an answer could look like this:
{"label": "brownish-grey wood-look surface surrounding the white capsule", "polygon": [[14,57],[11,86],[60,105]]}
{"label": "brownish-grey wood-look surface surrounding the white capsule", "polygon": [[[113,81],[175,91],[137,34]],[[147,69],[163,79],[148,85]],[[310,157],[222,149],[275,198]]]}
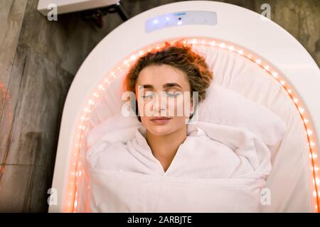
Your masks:
{"label": "brownish-grey wood-look surface surrounding the white capsule", "polygon": [[[174,1],[123,0],[130,17]],[[320,1],[225,1],[261,13],[294,35],[320,65]],[[122,23],[104,28],[79,13],[50,22],[37,0],[0,0],[0,211],[46,212],[63,104],[70,83],[92,48]],[[230,15],[232,16],[232,15]]]}

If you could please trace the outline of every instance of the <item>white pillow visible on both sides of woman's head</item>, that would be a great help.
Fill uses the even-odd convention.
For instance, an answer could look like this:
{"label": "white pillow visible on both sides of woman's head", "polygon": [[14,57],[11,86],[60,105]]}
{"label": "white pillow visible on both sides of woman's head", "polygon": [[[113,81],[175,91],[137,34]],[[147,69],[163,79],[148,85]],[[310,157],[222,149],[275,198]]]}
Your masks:
{"label": "white pillow visible on both sides of woman's head", "polygon": [[[206,99],[199,103],[198,108],[198,121],[244,128],[258,135],[266,145],[277,145],[286,131],[284,121],[265,106],[215,82],[210,85]],[[134,130],[130,135],[121,135],[121,129],[137,126],[141,123],[136,116],[125,117],[120,112],[93,128],[87,134],[87,145],[91,147],[110,131],[118,131],[121,141],[129,140],[134,137]]]}

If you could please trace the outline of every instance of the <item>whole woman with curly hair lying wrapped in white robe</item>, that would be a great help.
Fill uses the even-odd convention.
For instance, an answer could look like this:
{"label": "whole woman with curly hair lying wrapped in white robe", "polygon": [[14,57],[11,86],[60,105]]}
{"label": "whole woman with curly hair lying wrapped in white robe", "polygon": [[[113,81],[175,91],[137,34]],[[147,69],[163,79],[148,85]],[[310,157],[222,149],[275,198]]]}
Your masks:
{"label": "whole woman with curly hair lying wrapped in white robe", "polygon": [[124,91],[142,125],[131,140],[119,139],[127,128],[88,150],[92,211],[258,211],[267,146],[240,128],[188,123],[212,80],[204,58],[180,42],[137,60]]}

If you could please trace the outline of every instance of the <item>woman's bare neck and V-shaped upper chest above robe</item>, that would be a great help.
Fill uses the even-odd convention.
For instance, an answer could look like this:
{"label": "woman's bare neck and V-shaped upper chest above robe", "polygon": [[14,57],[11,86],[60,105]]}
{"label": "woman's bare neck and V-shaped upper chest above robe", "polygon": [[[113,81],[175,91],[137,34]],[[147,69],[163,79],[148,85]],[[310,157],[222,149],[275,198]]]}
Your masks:
{"label": "woman's bare neck and V-shaped upper chest above robe", "polygon": [[154,157],[161,162],[165,171],[174,159],[178,147],[186,140],[186,136],[187,125],[167,135],[154,135],[146,131],[146,142],[149,144]]}

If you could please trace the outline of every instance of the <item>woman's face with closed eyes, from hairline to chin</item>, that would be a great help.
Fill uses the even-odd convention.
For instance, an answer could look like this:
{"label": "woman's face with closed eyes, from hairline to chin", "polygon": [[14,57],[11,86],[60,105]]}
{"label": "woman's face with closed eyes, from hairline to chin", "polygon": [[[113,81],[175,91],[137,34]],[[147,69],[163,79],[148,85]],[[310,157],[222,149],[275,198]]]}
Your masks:
{"label": "woman's face with closed eyes, from hairline to chin", "polygon": [[181,129],[193,112],[186,74],[170,65],[145,67],[139,73],[136,94],[142,125],[154,135]]}

